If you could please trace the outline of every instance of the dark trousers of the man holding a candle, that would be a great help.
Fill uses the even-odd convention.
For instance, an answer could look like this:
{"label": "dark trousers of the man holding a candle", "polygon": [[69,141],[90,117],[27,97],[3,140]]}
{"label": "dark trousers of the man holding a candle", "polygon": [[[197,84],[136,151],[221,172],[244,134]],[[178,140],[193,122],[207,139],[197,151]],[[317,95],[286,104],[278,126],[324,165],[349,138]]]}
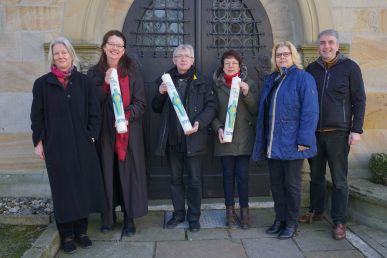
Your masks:
{"label": "dark trousers of the man holding a candle", "polygon": [[183,180],[184,167],[188,176],[187,187],[187,220],[197,221],[200,217],[202,202],[202,161],[203,155],[187,157],[185,153],[167,152],[171,171],[171,198],[174,216],[185,218],[185,186]]}

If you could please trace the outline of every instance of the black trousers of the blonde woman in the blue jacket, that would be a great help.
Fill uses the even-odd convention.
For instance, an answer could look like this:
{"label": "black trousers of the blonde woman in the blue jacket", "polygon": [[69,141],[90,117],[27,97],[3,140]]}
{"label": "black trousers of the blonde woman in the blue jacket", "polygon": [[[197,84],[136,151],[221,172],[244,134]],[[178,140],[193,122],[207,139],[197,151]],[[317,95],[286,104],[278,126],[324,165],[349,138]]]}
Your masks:
{"label": "black trousers of the blonde woman in the blue jacket", "polygon": [[304,160],[269,159],[275,219],[296,225],[301,204],[301,167]]}

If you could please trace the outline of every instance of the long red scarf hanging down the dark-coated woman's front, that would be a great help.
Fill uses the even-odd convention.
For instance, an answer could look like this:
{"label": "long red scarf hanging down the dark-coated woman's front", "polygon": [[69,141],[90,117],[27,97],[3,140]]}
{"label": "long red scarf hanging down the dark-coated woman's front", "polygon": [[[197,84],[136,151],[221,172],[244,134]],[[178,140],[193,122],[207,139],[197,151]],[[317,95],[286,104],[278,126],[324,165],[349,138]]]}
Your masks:
{"label": "long red scarf hanging down the dark-coated woman's front", "polygon": [[[118,82],[120,83],[122,104],[125,111],[125,119],[129,121],[130,118],[130,85],[129,85],[129,76],[118,76]],[[103,84],[104,92],[110,96],[110,85],[104,82]],[[116,132],[116,142],[114,145],[114,150],[117,153],[118,160],[125,160],[126,152],[128,150],[129,143],[129,124],[128,131],[126,133],[117,133]]]}

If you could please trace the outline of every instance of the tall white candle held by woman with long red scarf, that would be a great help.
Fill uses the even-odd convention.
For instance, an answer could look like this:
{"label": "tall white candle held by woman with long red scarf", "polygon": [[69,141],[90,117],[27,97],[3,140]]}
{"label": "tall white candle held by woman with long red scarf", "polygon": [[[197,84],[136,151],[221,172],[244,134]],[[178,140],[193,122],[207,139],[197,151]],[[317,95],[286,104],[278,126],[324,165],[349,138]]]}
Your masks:
{"label": "tall white candle held by woman with long red scarf", "polygon": [[110,93],[112,95],[114,117],[116,119],[117,133],[126,133],[128,131],[125,119],[124,106],[122,104],[121,89],[118,82],[116,69],[112,69],[110,76]]}

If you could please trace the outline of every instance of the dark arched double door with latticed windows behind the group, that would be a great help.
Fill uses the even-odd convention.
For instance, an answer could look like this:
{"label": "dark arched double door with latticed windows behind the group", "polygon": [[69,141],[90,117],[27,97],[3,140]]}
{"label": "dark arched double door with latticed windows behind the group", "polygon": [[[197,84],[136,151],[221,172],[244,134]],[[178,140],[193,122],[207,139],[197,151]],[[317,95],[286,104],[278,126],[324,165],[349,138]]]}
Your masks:
{"label": "dark arched double door with latticed windows behind the group", "polygon": [[[273,42],[269,19],[258,0],[137,0],[129,9],[123,32],[127,54],[139,63],[147,94],[144,130],[149,198],[169,198],[168,164],[155,155],[159,114],[151,110],[158,90],[154,81],[172,67],[173,49],[188,43],[195,48],[195,66],[208,78],[219,66],[222,53],[233,48],[243,55],[249,76],[262,85]],[[222,197],[221,166],[212,155],[212,130],[209,134],[203,197]],[[249,179],[250,195],[269,194],[265,163],[251,162]]]}

